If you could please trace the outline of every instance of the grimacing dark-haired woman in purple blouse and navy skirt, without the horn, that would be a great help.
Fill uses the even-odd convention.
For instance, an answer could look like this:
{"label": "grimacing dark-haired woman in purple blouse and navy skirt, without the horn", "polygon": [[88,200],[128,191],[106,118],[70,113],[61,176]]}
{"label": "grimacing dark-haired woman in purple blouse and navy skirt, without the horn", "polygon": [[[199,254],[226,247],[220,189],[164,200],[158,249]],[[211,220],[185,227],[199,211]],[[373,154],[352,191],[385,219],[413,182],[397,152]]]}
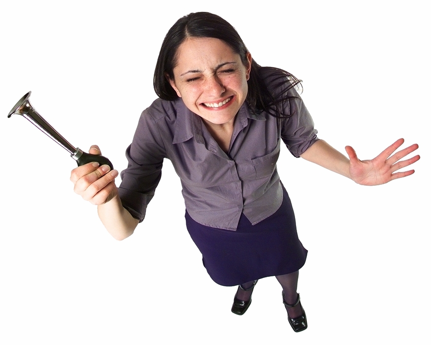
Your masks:
{"label": "grimacing dark-haired woman in purple blouse and navy skirt, without the horn", "polygon": [[[120,187],[118,172],[97,163],[71,174],[75,192],[98,205],[108,232],[122,240],[143,220],[168,158],[181,178],[187,229],[208,274],[221,285],[238,285],[232,312],[247,311],[258,279],[276,276],[295,332],[307,328],[297,293],[307,251],[276,170],[280,139],[294,156],[365,185],[410,175],[413,170],[397,171],[419,159],[399,161],[416,144],[391,156],[402,139],[370,161],[347,146],[346,158],[317,138],[298,83],[281,69],[260,67],[222,18],[191,13],[162,44],[154,75],[160,99],[140,117]],[[90,152],[100,154],[96,146]]]}

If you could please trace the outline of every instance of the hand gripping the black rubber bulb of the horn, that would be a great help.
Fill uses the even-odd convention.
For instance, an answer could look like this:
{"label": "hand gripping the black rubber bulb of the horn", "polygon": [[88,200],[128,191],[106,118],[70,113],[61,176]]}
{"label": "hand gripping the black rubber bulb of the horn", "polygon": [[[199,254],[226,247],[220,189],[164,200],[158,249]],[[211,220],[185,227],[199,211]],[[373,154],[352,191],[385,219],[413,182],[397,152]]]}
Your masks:
{"label": "hand gripping the black rubber bulb of the horn", "polygon": [[[99,146],[91,146],[89,153],[101,154]],[[88,163],[72,170],[70,181],[74,192],[93,205],[103,205],[118,196],[115,177],[118,171],[110,171],[109,166],[99,163]]]}

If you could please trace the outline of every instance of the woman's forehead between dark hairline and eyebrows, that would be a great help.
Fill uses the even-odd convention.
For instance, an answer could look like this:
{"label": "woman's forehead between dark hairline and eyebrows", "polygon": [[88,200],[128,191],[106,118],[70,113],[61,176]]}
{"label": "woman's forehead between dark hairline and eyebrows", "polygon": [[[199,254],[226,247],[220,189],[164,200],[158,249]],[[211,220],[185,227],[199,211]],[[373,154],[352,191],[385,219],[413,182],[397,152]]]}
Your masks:
{"label": "woman's forehead between dark hairline and eyebrows", "polygon": [[188,37],[178,47],[175,69],[198,64],[219,64],[233,59],[241,61],[239,54],[218,38]]}

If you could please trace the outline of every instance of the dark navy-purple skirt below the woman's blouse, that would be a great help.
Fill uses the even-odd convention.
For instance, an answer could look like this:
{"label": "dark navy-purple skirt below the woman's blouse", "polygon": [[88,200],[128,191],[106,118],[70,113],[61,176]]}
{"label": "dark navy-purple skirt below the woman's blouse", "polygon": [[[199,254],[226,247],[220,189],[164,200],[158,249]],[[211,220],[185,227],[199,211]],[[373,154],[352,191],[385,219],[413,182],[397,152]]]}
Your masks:
{"label": "dark navy-purple skirt below the woman's blouse", "polygon": [[283,187],[279,209],[252,225],[241,214],[236,231],[197,223],[186,211],[187,230],[202,253],[203,266],[220,285],[234,286],[298,271],[307,250],[298,239],[295,214]]}

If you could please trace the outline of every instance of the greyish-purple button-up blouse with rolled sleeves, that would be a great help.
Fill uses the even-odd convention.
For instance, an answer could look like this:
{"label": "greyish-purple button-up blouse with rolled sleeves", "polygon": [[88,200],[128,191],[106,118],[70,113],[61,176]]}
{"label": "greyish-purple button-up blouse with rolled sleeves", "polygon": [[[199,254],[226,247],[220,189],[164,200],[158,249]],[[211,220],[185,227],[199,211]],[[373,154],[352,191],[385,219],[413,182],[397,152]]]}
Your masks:
{"label": "greyish-purple button-up blouse with rolled sleeves", "polygon": [[[293,88],[289,93],[298,97]],[[295,157],[318,140],[300,98],[283,106],[293,115],[277,124],[273,116],[252,114],[243,104],[225,153],[180,98],[157,99],[142,112],[126,151],[129,164],[119,187],[123,206],[133,217],[144,219],[167,158],[181,179],[186,209],[198,223],[236,230],[241,213],[252,224],[262,221],[283,199],[276,170],[280,138]]]}

